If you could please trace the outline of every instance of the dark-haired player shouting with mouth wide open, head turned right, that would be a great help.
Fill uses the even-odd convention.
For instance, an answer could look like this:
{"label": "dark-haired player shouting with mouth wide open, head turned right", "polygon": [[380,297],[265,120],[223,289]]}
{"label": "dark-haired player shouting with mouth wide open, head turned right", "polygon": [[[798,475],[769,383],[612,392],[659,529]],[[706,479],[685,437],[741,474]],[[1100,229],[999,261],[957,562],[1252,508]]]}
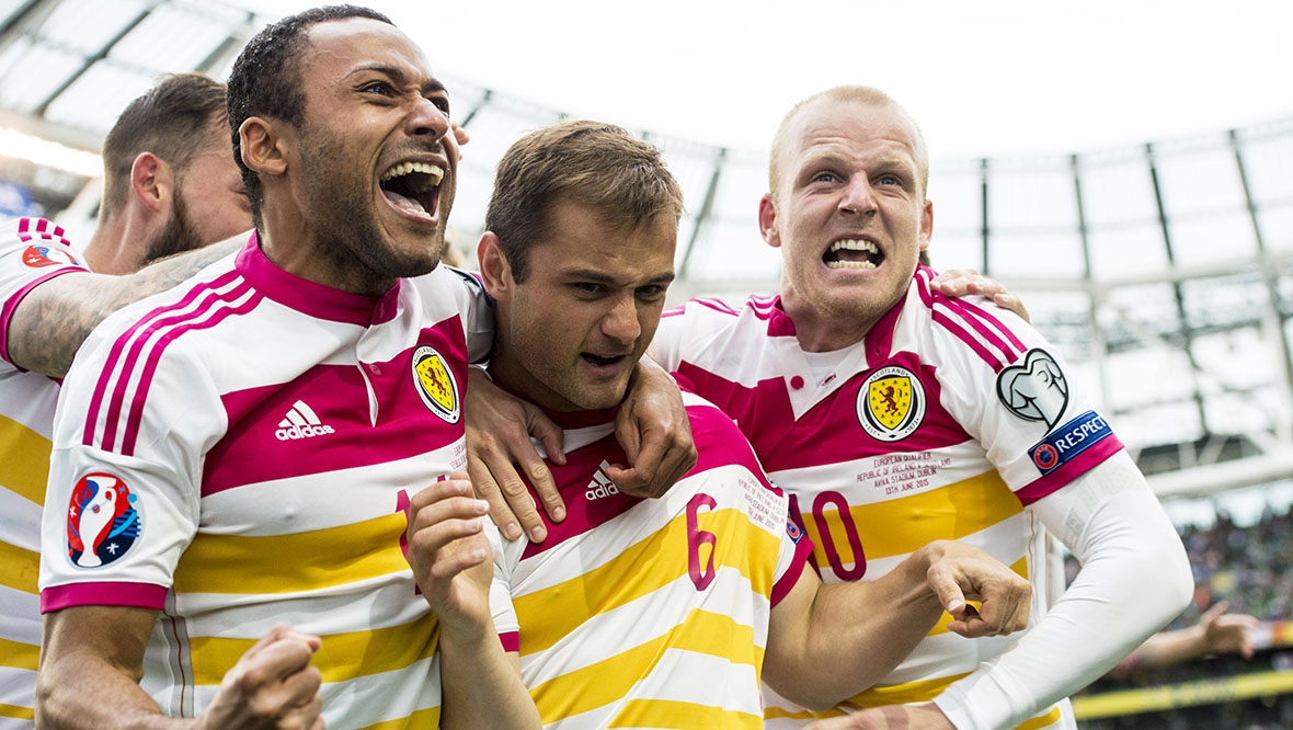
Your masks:
{"label": "dark-haired player shouting with mouth wide open, head turned right", "polygon": [[484,537],[416,575],[403,555],[427,484],[455,491],[454,516],[485,513],[455,469],[487,303],[437,267],[449,97],[354,6],[262,30],[228,96],[255,230],[109,317],[67,377],[37,722],[537,727],[491,625]]}

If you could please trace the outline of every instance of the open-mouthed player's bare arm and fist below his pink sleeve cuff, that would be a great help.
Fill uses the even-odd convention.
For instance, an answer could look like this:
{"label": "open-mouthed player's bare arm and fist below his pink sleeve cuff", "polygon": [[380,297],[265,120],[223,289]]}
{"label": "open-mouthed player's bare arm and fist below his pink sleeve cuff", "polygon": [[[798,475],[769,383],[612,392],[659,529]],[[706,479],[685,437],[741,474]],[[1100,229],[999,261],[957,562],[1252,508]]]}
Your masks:
{"label": "open-mouthed player's bare arm and fist below his pink sleeve cuff", "polygon": [[[78,606],[45,616],[36,685],[40,727],[322,730],[321,674],[310,665],[319,639],[284,624],[270,629],[225,674],[195,718],[162,714],[140,687],[151,608]],[[62,691],[57,691],[57,690]]]}

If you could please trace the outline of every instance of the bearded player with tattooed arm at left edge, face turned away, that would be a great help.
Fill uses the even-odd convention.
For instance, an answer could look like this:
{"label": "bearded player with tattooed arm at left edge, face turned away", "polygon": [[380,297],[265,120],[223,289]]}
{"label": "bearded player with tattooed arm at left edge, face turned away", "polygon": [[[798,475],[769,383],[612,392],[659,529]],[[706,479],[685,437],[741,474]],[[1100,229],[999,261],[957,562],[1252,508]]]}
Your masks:
{"label": "bearded player with tattooed arm at left edge, face turned away", "polygon": [[[36,302],[100,296],[110,308],[112,296],[106,294],[160,290],[233,251],[234,242],[213,246],[136,277],[94,276],[85,268],[125,274],[247,230],[251,208],[229,154],[225,85],[180,74],[127,105],[103,141],[103,185],[98,228],[84,255],[48,220],[0,224],[0,614],[6,617],[0,623],[0,670],[8,677],[0,682],[3,730],[28,727],[35,714],[40,510],[58,400],[57,381],[26,369],[40,368],[36,351],[44,343],[84,326],[71,304],[43,308]],[[78,276],[63,276],[69,273]],[[50,296],[56,291],[62,294]]]}

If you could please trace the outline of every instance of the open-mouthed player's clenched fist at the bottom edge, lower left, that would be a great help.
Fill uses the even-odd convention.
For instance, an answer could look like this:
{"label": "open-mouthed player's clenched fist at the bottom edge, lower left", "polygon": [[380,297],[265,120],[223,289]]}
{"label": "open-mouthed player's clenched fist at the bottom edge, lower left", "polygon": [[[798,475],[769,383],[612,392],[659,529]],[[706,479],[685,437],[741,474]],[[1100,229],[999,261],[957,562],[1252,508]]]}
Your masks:
{"label": "open-mouthed player's clenched fist at the bottom edge, lower left", "polygon": [[322,674],[310,664],[321,645],[318,637],[275,625],[225,674],[198,727],[322,730]]}

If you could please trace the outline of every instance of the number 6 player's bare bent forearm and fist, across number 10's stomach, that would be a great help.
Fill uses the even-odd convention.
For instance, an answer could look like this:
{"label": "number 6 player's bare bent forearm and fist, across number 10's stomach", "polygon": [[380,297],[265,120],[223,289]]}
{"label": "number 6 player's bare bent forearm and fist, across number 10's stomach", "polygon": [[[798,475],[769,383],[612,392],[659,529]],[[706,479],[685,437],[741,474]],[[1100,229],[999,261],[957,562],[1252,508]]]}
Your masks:
{"label": "number 6 player's bare bent forearm and fist, across number 10's stomach", "polygon": [[888,674],[944,610],[954,619],[948,629],[963,637],[1009,634],[1027,626],[1031,598],[1027,580],[950,540],[921,548],[874,581],[822,584],[804,571],[772,610],[763,681],[826,709]]}

